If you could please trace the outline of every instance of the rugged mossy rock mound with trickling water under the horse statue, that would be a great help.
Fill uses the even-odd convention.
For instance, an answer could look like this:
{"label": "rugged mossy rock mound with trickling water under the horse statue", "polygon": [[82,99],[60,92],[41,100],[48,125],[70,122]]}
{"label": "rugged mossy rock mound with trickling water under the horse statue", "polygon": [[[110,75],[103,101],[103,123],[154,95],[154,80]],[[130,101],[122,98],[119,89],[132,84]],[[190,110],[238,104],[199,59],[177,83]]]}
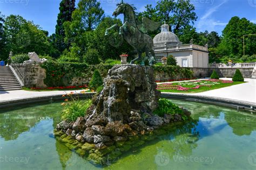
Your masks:
{"label": "rugged mossy rock mound with trickling water under the horse statue", "polygon": [[[103,164],[104,154],[98,154],[98,151],[109,147],[116,149],[120,144],[131,143],[136,136],[151,134],[163,124],[182,121],[178,114],[165,114],[164,117],[153,115],[159,97],[152,67],[113,66],[104,80],[103,90],[93,97],[86,116],[77,118],[75,122],[59,123],[56,136],[64,143],[68,138],[72,143],[90,144],[93,151],[89,152],[89,158]],[[190,116],[186,110],[184,114]],[[113,150],[106,153],[110,151]],[[81,152],[84,154],[86,151],[79,150]]]}

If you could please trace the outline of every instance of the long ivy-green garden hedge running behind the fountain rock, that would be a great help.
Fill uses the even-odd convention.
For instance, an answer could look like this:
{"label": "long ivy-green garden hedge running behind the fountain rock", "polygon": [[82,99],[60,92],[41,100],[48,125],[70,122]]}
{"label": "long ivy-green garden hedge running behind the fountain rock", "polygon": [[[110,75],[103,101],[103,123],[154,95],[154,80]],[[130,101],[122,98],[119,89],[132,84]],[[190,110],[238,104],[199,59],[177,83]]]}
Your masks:
{"label": "long ivy-green garden hedge running behind the fountain rock", "polygon": [[[47,61],[41,65],[46,70],[44,83],[48,87],[82,86],[89,84],[96,69],[102,77],[107,76],[113,65],[87,65],[86,63]],[[170,79],[191,79],[193,76],[190,68],[179,66],[153,66],[155,74],[165,73]],[[76,83],[75,81],[79,82]],[[81,84],[83,82],[83,84]]]}

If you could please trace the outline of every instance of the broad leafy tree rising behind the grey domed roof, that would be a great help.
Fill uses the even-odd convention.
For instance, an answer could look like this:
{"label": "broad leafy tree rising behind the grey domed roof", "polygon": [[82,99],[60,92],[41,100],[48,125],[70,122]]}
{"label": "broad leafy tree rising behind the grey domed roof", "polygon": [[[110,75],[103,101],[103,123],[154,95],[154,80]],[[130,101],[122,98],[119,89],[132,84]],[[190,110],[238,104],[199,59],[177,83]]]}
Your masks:
{"label": "broad leafy tree rising behind the grey domed roof", "polygon": [[194,10],[194,5],[190,3],[190,0],[160,0],[157,2],[156,8],[147,5],[146,11],[140,13],[139,16],[166,22],[170,25],[170,31],[178,34],[186,25],[194,24],[194,21],[197,20]]}

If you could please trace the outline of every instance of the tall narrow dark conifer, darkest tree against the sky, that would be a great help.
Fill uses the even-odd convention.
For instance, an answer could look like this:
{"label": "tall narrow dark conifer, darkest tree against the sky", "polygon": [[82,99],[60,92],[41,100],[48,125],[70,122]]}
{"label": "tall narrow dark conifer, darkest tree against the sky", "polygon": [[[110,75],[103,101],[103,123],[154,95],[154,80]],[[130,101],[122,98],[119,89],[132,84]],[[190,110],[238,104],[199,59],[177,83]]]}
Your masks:
{"label": "tall narrow dark conifer, darkest tree against the sky", "polygon": [[[64,41],[65,31],[64,31],[64,22],[71,21],[72,12],[75,10],[75,0],[62,0],[59,4],[59,14],[57,19],[57,25],[55,26],[55,35],[52,38],[55,38],[53,45],[58,50],[59,53],[62,53],[64,49],[69,48],[70,42]],[[58,55],[58,54],[56,54]]]}

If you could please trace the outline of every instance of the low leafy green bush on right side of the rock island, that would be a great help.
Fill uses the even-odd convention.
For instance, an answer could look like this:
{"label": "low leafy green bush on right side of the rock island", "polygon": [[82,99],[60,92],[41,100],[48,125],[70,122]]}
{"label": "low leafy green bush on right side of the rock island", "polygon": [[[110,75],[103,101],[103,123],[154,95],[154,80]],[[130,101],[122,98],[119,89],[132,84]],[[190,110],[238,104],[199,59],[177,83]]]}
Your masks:
{"label": "low leafy green bush on right side of the rock island", "polygon": [[183,114],[183,111],[178,107],[178,105],[172,103],[170,100],[167,100],[165,98],[161,98],[158,101],[158,108],[153,111],[153,114],[158,115],[160,117],[163,117],[164,114]]}

